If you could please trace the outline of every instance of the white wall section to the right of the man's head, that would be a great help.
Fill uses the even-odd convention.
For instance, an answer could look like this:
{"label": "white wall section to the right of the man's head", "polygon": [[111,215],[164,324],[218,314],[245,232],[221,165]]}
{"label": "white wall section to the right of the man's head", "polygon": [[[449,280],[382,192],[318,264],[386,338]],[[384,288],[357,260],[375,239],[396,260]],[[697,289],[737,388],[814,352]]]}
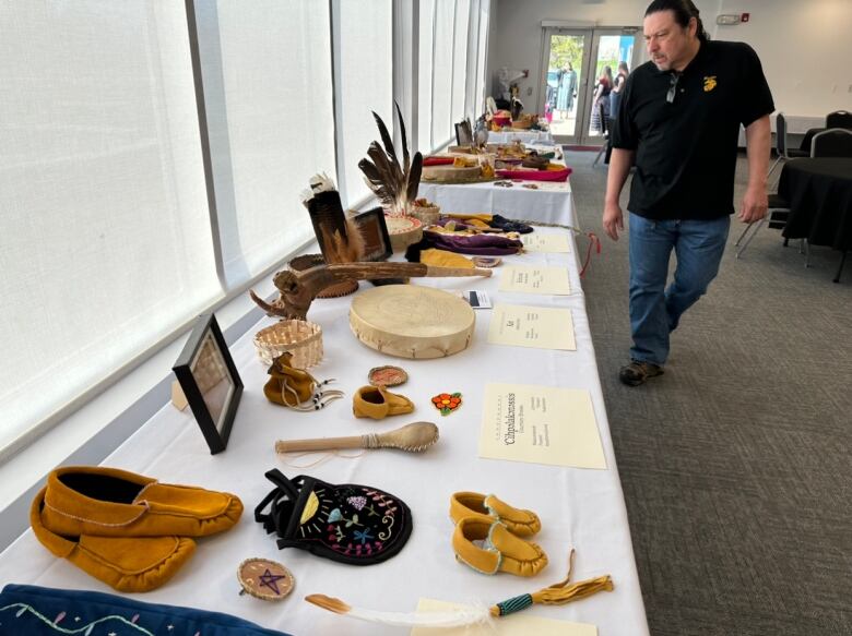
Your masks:
{"label": "white wall section to the right of the man's head", "polygon": [[755,48],[778,110],[852,110],[852,0],[722,0],[720,13],[750,14],[711,35]]}

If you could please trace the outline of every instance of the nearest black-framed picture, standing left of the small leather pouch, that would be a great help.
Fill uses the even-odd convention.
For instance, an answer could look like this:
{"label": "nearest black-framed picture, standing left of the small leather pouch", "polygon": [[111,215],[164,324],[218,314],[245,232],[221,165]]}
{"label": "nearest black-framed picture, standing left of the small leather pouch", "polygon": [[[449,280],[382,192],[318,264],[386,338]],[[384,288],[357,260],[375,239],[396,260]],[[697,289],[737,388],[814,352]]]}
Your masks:
{"label": "nearest black-framed picture, standing left of the small leather pouch", "polygon": [[199,316],[171,368],[211,455],[227,446],[242,394],[242,381],[212,313]]}

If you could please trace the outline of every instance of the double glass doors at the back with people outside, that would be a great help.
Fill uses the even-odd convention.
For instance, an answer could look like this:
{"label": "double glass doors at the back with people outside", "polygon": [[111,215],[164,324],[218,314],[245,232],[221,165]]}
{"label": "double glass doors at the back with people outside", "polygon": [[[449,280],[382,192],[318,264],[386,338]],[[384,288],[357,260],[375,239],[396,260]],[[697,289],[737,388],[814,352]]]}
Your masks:
{"label": "double glass doors at the back with people outside", "polygon": [[549,119],[557,143],[597,146],[604,142],[618,64],[625,62],[629,71],[639,59],[640,47],[634,46],[637,31],[544,29],[546,72],[540,111]]}

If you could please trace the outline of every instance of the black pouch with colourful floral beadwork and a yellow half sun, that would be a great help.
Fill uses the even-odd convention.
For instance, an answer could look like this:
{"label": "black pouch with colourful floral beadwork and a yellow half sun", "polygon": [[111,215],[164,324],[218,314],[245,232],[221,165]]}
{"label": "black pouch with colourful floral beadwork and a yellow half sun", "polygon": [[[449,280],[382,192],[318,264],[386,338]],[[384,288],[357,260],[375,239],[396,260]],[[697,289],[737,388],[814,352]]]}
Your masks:
{"label": "black pouch with colourful floral beadwork and a yellow half sun", "polygon": [[[354,483],[333,485],[300,475],[267,472],[276,484],[255,509],[255,519],[275,532],[279,548],[300,548],[352,565],[372,565],[395,555],[409,540],[412,517],[395,495]],[[270,506],[269,513],[263,509]]]}

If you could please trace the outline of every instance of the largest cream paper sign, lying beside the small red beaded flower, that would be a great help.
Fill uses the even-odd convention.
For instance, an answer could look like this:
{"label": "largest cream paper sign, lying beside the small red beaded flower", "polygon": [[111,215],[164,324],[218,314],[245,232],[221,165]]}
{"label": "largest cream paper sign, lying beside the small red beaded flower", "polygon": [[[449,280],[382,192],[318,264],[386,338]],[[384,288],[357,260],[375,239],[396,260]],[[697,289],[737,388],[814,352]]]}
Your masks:
{"label": "largest cream paper sign, lying beside the small red beaded flower", "polygon": [[480,457],[605,470],[589,392],[487,384]]}

